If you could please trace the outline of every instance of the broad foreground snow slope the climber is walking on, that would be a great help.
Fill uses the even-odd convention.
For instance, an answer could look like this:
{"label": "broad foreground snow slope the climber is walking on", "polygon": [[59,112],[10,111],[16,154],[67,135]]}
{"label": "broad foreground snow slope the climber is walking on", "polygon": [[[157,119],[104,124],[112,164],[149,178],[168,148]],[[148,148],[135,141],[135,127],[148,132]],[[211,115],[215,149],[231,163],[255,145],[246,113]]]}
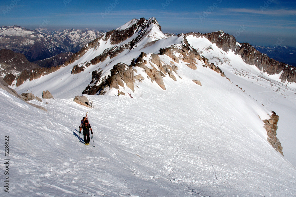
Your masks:
{"label": "broad foreground snow slope the climber is walking on", "polygon": [[[0,89],[9,195],[295,196],[295,167],[266,140],[270,112],[213,70],[178,73],[166,91],[144,80],[134,98],[88,96],[94,109],[73,98],[31,101],[44,112]],[[89,146],[78,134],[87,111]]]}

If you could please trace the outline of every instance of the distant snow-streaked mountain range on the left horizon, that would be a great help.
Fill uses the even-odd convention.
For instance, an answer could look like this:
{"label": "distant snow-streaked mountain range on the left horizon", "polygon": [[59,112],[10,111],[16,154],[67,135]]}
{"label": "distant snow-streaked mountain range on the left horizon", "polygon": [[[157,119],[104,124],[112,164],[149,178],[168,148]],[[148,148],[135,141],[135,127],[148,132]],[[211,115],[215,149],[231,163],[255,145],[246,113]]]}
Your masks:
{"label": "distant snow-streaked mountain range on the left horizon", "polygon": [[0,28],[0,48],[23,53],[29,61],[43,60],[62,52],[77,52],[102,33],[91,29],[30,30],[20,26]]}

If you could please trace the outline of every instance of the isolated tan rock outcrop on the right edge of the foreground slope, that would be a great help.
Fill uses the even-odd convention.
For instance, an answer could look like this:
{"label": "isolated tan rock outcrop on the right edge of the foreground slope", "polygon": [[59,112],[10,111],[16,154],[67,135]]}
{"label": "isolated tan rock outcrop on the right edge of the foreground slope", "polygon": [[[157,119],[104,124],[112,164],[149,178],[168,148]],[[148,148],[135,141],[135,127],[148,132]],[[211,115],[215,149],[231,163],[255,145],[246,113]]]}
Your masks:
{"label": "isolated tan rock outcrop on the right edge of the foreground slope", "polygon": [[276,130],[277,130],[277,123],[279,122],[279,116],[276,115],[274,111],[271,111],[272,115],[270,116],[269,120],[263,120],[264,128],[266,129],[267,135],[268,135],[268,142],[274,147],[276,151],[281,153],[284,156],[283,153],[283,147],[281,147],[281,142],[279,142],[279,139],[276,137]]}

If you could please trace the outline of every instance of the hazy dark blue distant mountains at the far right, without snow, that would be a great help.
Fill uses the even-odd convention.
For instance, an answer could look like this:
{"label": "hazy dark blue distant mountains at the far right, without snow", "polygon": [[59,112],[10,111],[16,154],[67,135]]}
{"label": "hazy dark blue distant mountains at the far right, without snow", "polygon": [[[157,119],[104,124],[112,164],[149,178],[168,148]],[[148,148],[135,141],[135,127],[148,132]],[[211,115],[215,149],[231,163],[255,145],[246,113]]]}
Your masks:
{"label": "hazy dark blue distant mountains at the far right, without snow", "polygon": [[268,57],[273,58],[279,62],[283,62],[292,66],[296,66],[296,48],[289,46],[256,46],[255,49],[261,53],[266,54]]}

